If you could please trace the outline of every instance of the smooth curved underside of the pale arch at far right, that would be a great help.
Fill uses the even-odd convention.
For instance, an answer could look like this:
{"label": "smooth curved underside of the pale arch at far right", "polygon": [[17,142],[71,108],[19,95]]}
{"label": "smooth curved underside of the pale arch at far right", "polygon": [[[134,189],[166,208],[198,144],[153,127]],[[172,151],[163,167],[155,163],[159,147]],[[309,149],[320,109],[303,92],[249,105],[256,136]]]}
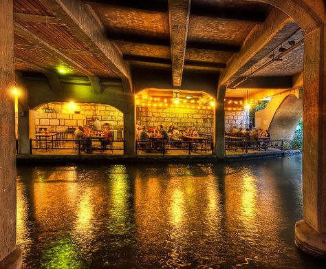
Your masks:
{"label": "smooth curved underside of the pale arch at far right", "polygon": [[287,96],[270,122],[269,132],[275,139],[292,140],[298,122],[302,118],[302,99],[293,94]]}

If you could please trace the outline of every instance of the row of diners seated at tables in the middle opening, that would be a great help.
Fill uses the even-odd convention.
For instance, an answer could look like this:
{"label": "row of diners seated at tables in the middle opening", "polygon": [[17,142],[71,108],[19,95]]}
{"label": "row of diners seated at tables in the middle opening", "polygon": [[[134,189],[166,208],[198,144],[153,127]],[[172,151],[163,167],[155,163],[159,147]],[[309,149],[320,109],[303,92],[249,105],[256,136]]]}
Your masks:
{"label": "row of diners seated at tables in the middle opening", "polygon": [[157,127],[147,128],[145,125],[140,125],[137,122],[136,125],[137,140],[150,140],[151,138],[162,138],[166,141],[182,141],[184,138],[198,138],[199,133],[195,127],[184,127],[181,131],[179,127],[171,125],[166,131],[163,125],[157,125]]}

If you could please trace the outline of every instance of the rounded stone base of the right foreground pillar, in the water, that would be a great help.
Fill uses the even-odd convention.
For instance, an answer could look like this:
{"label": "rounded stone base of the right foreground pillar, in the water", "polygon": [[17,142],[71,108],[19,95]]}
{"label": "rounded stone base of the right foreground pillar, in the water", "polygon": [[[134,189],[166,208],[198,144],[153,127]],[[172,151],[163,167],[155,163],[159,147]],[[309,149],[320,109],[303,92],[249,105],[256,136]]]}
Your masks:
{"label": "rounded stone base of the right foreground pillar, in the water", "polygon": [[304,220],[296,222],[294,242],[303,252],[326,259],[326,233],[317,233]]}

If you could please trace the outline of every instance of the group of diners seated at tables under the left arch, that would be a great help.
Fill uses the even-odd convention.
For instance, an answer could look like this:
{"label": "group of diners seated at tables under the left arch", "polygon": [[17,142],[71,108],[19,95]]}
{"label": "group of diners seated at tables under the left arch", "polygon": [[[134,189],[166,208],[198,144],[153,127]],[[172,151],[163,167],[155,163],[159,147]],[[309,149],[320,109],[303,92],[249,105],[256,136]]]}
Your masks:
{"label": "group of diners seated at tables under the left arch", "polygon": [[92,153],[92,139],[98,138],[101,149],[104,149],[108,144],[112,143],[113,136],[113,127],[109,123],[93,125],[93,128],[89,127],[89,125],[78,126],[74,131],[74,139],[81,140],[80,146],[85,153]]}

